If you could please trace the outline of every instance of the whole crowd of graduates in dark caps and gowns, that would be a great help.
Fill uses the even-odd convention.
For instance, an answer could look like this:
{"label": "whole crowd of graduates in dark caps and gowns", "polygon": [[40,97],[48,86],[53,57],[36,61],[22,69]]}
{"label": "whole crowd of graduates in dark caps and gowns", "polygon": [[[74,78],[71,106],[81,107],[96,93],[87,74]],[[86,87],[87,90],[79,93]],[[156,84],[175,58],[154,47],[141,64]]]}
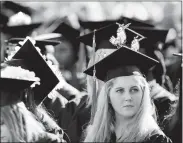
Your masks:
{"label": "whole crowd of graduates in dark caps and gowns", "polygon": [[32,22],[9,1],[0,16],[1,142],[182,141],[180,29],[166,42],[124,16]]}

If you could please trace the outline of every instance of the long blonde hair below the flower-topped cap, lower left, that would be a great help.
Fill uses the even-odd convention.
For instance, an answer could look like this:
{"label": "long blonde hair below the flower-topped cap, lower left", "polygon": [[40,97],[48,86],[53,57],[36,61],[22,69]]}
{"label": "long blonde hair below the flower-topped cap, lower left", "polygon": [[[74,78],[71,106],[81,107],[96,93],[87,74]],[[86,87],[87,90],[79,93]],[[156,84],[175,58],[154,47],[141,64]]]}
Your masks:
{"label": "long blonde hair below the flower-topped cap, lower left", "polygon": [[45,129],[23,102],[1,107],[1,118],[8,127],[11,142],[38,141]]}

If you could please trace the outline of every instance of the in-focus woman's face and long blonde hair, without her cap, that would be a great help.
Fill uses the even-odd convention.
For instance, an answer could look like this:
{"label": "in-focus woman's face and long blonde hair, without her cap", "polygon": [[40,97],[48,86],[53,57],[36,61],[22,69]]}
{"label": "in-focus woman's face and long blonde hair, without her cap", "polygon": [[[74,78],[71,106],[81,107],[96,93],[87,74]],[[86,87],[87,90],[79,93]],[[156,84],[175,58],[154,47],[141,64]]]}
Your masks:
{"label": "in-focus woman's face and long blonde hair, without her cap", "polygon": [[[142,142],[162,138],[153,118],[149,88],[144,77],[121,76],[103,86],[86,142]],[[154,136],[153,136],[154,135]],[[152,137],[153,136],[153,137]]]}

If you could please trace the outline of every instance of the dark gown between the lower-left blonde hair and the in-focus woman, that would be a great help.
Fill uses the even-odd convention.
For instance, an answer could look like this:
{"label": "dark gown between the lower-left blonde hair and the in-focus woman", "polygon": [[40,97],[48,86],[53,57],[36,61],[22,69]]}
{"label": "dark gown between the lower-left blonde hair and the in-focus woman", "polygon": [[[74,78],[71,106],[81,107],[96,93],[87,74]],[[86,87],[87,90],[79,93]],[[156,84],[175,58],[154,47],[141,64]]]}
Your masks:
{"label": "dark gown between the lower-left blonde hair and the in-focus woman", "polygon": [[60,112],[58,125],[68,135],[67,142],[80,142],[82,133],[90,121],[91,108],[86,107],[87,95],[75,99]]}

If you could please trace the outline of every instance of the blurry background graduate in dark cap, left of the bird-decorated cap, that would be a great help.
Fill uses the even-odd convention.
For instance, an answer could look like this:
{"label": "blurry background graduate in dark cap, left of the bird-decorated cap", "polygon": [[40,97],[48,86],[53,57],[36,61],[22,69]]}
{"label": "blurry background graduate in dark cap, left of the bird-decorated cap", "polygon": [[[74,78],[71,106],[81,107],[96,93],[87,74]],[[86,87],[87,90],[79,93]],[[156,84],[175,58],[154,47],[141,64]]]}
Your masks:
{"label": "blurry background graduate in dark cap, left of the bird-decorated cap", "polygon": [[59,33],[61,35],[58,38],[61,44],[55,46],[52,52],[48,53],[49,58],[59,66],[64,78],[70,85],[79,91],[83,91],[84,76],[79,72],[80,69],[77,69],[80,44],[75,40],[80,35],[80,31],[70,26],[67,17],[64,17],[43,24],[38,32]]}

